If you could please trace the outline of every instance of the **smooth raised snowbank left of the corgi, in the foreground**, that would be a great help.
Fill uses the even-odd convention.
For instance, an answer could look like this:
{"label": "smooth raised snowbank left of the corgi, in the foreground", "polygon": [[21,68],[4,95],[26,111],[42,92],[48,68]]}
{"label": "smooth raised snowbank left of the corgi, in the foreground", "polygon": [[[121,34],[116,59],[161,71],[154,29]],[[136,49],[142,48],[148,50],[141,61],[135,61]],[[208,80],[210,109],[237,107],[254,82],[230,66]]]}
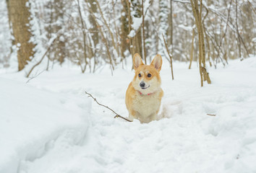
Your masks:
{"label": "smooth raised snowbank left of the corgi, in the foreground", "polygon": [[17,172],[22,161],[42,157],[56,141],[82,142],[90,102],[88,112],[74,111],[67,96],[3,78],[0,91],[0,172]]}

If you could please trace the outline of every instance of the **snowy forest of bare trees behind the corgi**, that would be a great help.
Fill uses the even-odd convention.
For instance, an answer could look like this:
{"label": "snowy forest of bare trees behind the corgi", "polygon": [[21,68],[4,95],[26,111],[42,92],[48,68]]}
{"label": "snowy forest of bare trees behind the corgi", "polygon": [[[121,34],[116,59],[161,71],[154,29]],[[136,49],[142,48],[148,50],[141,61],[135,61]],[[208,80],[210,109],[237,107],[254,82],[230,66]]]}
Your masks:
{"label": "snowy forest of bare trees behind the corgi", "polygon": [[202,74],[207,66],[256,54],[255,2],[249,0],[7,0],[0,16],[0,68],[26,76],[65,61],[82,73],[105,65],[114,71],[135,53],[144,61],[156,53],[170,63],[168,54],[197,61]]}

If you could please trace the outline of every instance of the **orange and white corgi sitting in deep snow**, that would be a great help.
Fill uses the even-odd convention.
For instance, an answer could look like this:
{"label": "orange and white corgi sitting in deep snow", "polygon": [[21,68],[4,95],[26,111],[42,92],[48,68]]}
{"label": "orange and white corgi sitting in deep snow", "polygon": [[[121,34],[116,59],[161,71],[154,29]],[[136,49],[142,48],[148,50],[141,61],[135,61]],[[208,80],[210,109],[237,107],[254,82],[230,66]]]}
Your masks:
{"label": "orange and white corgi sitting in deep snow", "polygon": [[156,120],[163,97],[161,77],[162,57],[156,55],[150,65],[145,65],[138,53],[133,56],[135,77],[129,84],[125,103],[129,111],[129,119],[150,123]]}

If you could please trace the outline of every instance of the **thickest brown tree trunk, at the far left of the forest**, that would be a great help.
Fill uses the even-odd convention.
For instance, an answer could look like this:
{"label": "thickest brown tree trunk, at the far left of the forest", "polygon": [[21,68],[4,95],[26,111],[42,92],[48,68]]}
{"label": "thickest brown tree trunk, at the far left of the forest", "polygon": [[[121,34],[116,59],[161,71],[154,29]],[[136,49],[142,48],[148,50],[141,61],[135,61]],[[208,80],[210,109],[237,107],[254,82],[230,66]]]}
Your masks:
{"label": "thickest brown tree trunk, at the far left of the forest", "polygon": [[17,46],[17,59],[21,71],[34,56],[35,45],[30,42],[32,36],[30,32],[29,18],[30,11],[28,0],[8,0],[9,17],[12,22],[12,30],[14,35],[14,43]]}

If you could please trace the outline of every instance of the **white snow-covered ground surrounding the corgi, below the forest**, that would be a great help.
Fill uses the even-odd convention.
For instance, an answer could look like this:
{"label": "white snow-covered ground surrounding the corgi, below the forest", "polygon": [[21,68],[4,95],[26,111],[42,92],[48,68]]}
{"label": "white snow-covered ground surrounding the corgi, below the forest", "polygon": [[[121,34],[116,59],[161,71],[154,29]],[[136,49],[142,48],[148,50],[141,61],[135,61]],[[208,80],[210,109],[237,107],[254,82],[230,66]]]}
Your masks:
{"label": "white snow-covered ground surrounding the corgi, below the forest", "polygon": [[163,65],[160,120],[148,124],[85,95],[127,117],[130,65],[114,76],[56,66],[27,83],[1,70],[0,172],[256,172],[256,58],[210,68],[203,87],[193,63],[175,62],[174,81]]}

